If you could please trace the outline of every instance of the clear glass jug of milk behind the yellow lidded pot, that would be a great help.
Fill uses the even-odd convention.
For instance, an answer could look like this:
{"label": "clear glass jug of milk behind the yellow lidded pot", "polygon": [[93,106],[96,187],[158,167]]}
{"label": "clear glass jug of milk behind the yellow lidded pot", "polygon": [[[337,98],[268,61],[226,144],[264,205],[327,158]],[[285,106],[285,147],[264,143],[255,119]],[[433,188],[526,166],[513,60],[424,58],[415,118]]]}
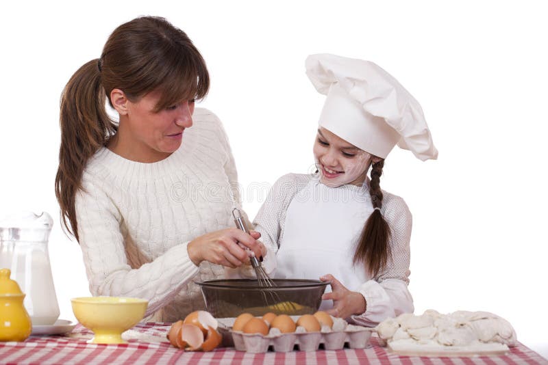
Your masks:
{"label": "clear glass jug of milk behind the yellow lidded pot", "polygon": [[23,304],[33,325],[53,325],[59,317],[47,250],[52,226],[45,212],[0,217],[0,268],[10,269],[27,295]]}

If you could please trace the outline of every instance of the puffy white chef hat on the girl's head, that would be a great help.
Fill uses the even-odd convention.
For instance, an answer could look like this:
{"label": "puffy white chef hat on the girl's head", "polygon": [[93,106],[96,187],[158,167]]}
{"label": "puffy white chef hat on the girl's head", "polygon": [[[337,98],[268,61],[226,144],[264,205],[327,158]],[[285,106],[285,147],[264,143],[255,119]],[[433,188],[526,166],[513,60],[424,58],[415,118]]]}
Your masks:
{"label": "puffy white chef hat on the girl's head", "polygon": [[437,159],[421,105],[373,62],[310,55],[306,75],[327,95],[319,121],[323,128],[383,159],[396,144],[422,161]]}

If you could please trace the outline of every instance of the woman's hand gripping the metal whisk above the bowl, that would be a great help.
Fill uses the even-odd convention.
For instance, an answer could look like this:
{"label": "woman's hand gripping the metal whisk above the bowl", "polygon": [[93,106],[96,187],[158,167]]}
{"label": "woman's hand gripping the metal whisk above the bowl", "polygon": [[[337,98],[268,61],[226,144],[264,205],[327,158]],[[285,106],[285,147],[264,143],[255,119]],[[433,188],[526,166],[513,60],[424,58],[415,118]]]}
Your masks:
{"label": "woman's hand gripping the metal whisk above the bowl", "polygon": [[195,265],[206,260],[234,269],[249,262],[249,253],[240,244],[248,247],[257,258],[262,256],[266,249],[257,241],[259,237],[259,232],[251,231],[247,234],[237,228],[210,232],[188,243],[188,256]]}

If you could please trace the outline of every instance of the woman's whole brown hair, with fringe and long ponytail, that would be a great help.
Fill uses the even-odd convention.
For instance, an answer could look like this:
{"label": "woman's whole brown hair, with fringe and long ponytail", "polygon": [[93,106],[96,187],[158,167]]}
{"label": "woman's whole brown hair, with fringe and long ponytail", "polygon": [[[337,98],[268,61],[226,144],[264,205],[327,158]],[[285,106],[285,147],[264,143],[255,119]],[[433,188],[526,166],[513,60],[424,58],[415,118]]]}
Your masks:
{"label": "woman's whole brown hair, with fringe and long ponytail", "polygon": [[114,29],[101,57],[79,68],[61,94],[55,196],[69,233],[78,240],[75,198],[86,163],[118,130],[105,110],[105,99],[112,107],[110,92],[120,89],[136,101],[158,91],[158,112],[181,100],[205,97],[209,85],[199,51],[184,31],[164,18],[143,16]]}

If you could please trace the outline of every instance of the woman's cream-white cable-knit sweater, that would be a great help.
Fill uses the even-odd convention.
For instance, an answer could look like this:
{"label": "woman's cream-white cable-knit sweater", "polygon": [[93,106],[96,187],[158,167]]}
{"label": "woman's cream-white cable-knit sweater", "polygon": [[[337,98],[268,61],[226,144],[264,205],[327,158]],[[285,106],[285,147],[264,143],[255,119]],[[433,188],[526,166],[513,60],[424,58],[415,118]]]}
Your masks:
{"label": "woman's cream-white cable-knit sweater", "polygon": [[223,126],[195,109],[182,146],[156,163],[101,148],[88,161],[76,197],[79,243],[92,295],[149,300],[145,317],[176,321],[203,309],[193,280],[223,277],[223,267],[188,257],[197,236],[234,227],[240,206],[236,166]]}

